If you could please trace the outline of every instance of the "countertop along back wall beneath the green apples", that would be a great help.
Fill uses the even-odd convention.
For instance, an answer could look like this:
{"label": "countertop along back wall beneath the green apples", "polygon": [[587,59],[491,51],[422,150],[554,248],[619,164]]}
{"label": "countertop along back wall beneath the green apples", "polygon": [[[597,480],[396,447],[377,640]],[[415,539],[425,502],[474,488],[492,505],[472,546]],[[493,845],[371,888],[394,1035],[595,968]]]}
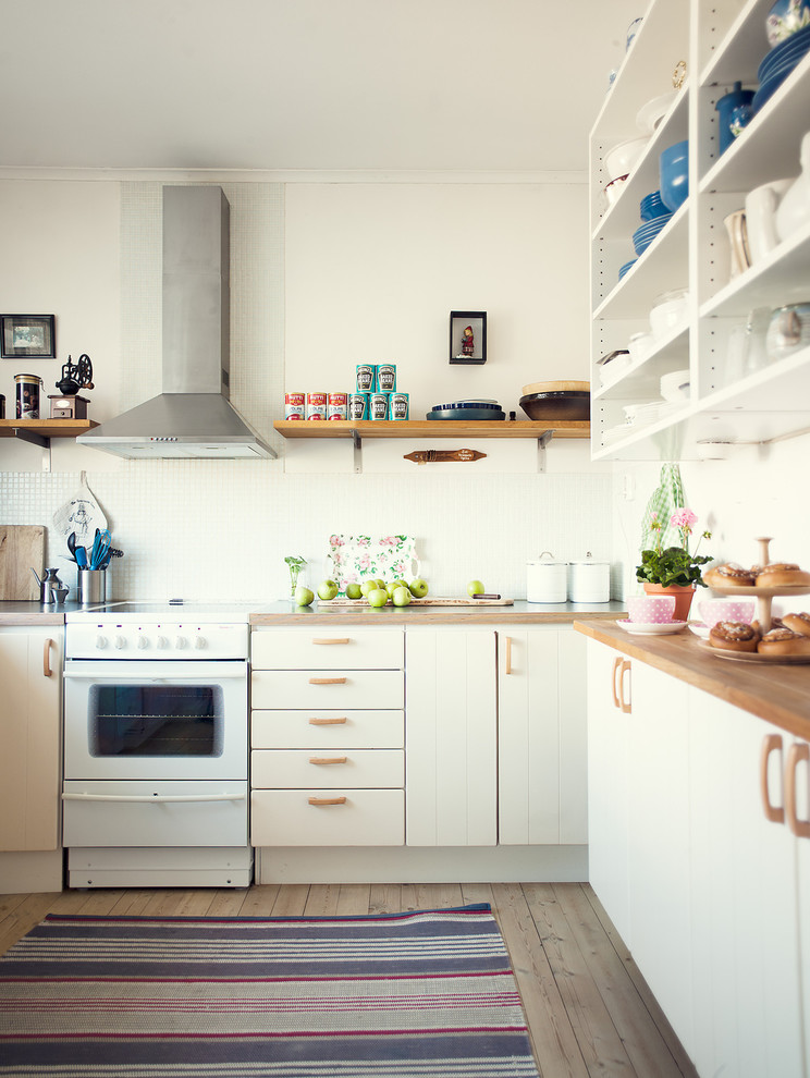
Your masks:
{"label": "countertop along back wall beneath the green apples", "polygon": [[[352,607],[275,602],[250,614],[250,625],[543,625],[570,624],[577,617],[610,618],[624,614],[621,602],[542,603],[516,599],[512,607],[392,607],[373,609],[357,600]],[[626,616],[626,615],[625,615]]]}

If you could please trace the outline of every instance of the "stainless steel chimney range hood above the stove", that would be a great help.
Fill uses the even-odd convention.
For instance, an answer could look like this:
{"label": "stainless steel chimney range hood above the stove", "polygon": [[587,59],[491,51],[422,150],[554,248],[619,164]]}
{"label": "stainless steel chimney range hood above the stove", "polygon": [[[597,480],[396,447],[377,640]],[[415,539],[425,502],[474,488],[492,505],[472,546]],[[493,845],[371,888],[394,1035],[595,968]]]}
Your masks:
{"label": "stainless steel chimney range hood above the stove", "polygon": [[273,457],[229,402],[230,206],[163,187],[163,392],[76,441],[133,460]]}

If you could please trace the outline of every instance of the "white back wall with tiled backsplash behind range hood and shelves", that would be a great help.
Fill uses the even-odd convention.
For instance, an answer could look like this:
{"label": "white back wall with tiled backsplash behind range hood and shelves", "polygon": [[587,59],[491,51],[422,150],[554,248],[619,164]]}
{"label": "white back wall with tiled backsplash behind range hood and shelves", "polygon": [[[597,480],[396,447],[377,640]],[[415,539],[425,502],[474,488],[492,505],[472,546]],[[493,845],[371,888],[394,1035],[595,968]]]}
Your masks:
{"label": "white back wall with tiled backsplash behind range hood and shelves", "polygon": [[[525,382],[586,377],[585,186],[223,186],[233,399],[280,460],[130,463],[54,440],[53,470],[44,473],[39,450],[3,439],[2,523],[49,525],[86,469],[126,551],[112,566],[114,598],[282,596],[284,555],[307,558],[317,583],[335,531],[414,535],[434,593],[479,577],[520,598],[525,562],[542,550],[611,560],[611,474],[590,464],[586,442],[552,442],[543,474],[531,440],[483,444],[480,470],[419,468],[402,461],[408,449],[397,442],[367,443],[355,475],[349,442],[307,450],[272,431],[283,416],[285,322],[287,384],[321,388],[332,375],[324,388],[347,388],[358,358],[396,358],[415,413],[439,403],[434,384],[451,395],[475,385],[475,395],[516,408]],[[76,351],[96,368],[93,418],[159,392],[159,184],[8,182],[0,213],[20,242],[49,256],[23,266],[0,257],[2,281],[15,284],[4,309],[53,311],[59,327],[73,326],[65,334],[81,338]],[[489,311],[482,369],[447,363],[447,318],[458,307]],[[58,329],[60,359],[70,347]],[[54,381],[59,364],[42,366]],[[296,451],[306,463],[296,466]],[[63,550],[50,536],[48,563],[73,585]]]}

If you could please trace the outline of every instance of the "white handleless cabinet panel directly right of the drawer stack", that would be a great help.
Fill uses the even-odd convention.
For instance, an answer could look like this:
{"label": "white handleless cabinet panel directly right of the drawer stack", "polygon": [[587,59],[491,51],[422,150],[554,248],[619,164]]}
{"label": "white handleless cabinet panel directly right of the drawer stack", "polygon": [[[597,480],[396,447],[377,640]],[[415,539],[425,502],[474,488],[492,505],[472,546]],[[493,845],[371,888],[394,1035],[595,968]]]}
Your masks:
{"label": "white handleless cabinet panel directly right of the drawer stack", "polygon": [[492,846],[495,633],[408,627],[405,666],[407,845]]}

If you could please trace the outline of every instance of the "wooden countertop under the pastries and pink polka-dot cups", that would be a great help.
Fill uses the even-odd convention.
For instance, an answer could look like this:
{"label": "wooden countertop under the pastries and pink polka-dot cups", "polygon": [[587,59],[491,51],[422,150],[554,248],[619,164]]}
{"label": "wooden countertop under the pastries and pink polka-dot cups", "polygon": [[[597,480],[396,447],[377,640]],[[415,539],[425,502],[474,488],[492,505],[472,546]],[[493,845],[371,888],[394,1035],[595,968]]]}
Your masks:
{"label": "wooden countertop under the pastries and pink polka-dot cups", "polygon": [[688,628],[673,636],[630,636],[611,622],[591,618],[576,621],[574,628],[810,740],[810,664],[757,665],[717,658]]}

